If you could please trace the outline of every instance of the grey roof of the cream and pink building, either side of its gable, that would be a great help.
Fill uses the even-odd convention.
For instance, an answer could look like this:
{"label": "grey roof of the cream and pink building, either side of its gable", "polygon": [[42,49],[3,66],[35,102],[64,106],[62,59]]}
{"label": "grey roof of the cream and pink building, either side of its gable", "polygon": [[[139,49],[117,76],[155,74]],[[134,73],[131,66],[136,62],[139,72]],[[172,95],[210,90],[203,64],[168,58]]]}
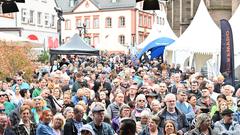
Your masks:
{"label": "grey roof of the cream and pink building, either side of its gable", "polygon": [[[76,0],[74,7],[70,7],[69,1],[70,0],[56,0],[56,3],[59,7],[62,8],[63,12],[72,12],[85,0]],[[136,6],[135,0],[116,0],[116,2],[112,2],[112,0],[89,0],[89,1],[92,2],[99,10],[132,8]]]}

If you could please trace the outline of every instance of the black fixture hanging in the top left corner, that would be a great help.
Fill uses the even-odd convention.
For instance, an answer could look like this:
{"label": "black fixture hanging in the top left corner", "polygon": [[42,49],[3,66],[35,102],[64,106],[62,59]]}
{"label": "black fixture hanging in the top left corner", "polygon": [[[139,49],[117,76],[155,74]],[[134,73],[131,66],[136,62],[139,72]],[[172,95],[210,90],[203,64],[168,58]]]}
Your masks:
{"label": "black fixture hanging in the top left corner", "polygon": [[17,4],[13,1],[5,1],[2,4],[2,12],[3,13],[12,13],[12,12],[18,12]]}

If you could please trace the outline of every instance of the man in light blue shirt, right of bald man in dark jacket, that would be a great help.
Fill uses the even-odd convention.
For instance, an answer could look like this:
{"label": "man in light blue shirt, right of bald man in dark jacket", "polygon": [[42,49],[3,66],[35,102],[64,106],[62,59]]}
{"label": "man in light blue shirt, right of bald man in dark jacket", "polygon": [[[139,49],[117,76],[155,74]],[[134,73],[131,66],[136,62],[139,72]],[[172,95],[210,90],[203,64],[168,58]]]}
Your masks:
{"label": "man in light blue shirt, right of bald man in dark jacket", "polygon": [[187,120],[191,122],[195,117],[195,113],[192,106],[186,102],[186,96],[186,90],[178,90],[176,107],[181,110],[186,115]]}

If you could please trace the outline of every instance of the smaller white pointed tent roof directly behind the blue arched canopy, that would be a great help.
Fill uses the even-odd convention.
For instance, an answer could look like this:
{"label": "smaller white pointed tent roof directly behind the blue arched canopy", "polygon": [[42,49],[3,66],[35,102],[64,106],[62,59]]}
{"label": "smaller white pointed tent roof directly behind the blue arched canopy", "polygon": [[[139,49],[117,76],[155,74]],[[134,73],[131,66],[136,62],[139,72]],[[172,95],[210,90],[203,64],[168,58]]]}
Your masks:
{"label": "smaller white pointed tent roof directly behind the blue arched canopy", "polygon": [[160,10],[160,11],[155,11],[158,17],[161,18],[163,21],[162,24],[157,24],[156,21],[152,26],[152,30],[148,37],[137,46],[138,49],[143,49],[145,46],[147,46],[150,42],[161,38],[161,37],[168,37],[171,39],[176,40],[177,36],[173,32],[172,28],[170,27],[168,20],[167,20],[167,15],[165,10]]}

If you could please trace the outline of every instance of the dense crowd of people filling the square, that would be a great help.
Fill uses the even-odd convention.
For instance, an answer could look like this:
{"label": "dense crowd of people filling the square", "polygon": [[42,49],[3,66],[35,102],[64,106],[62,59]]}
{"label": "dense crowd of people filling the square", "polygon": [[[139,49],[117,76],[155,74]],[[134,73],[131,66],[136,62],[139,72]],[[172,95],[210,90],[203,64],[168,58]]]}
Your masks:
{"label": "dense crowd of people filling the square", "polygon": [[0,80],[0,135],[240,135],[240,89],[223,75],[69,55]]}

